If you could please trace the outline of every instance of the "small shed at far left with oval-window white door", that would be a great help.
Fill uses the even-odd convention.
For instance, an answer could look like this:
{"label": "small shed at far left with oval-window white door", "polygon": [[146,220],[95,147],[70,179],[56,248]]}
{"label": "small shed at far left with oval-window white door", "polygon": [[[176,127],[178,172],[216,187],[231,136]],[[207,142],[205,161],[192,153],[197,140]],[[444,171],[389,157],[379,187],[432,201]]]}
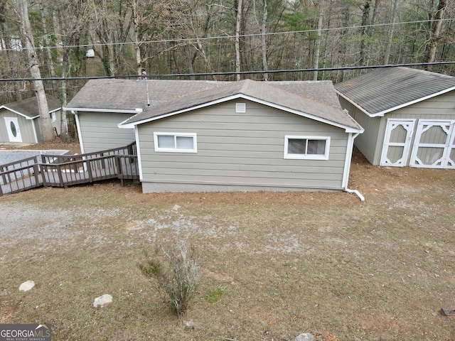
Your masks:
{"label": "small shed at far left with oval-window white door", "polygon": [[[61,105],[48,96],[50,120],[55,134],[60,135]],[[36,97],[0,106],[0,142],[38,144],[41,137],[41,119]]]}

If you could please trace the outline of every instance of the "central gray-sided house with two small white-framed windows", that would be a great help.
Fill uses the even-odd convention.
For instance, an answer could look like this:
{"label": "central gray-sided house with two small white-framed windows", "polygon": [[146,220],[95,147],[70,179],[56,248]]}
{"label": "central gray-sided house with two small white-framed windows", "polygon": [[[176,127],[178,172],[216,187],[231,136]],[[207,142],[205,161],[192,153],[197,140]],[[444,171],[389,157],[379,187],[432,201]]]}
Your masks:
{"label": "central gray-sided house with two small white-framed windows", "polygon": [[348,190],[363,132],[328,81],[90,80],[65,109],[85,152],[136,141],[144,193]]}

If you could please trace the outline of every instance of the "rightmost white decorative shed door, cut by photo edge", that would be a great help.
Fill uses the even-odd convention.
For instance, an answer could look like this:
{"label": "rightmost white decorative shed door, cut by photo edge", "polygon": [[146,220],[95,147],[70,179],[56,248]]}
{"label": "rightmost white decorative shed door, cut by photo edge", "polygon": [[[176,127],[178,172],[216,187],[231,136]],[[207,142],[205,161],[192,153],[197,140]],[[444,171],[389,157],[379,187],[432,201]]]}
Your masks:
{"label": "rightmost white decorative shed door, cut by photo edge", "polygon": [[455,168],[454,139],[454,120],[419,120],[410,166]]}

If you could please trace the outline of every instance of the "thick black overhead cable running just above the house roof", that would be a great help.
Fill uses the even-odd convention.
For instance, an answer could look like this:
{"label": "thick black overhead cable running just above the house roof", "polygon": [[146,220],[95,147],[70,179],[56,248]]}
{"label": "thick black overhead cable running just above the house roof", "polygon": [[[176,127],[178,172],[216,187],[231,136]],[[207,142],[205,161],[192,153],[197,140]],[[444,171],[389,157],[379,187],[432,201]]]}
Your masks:
{"label": "thick black overhead cable running just above the house roof", "polygon": [[338,70],[365,70],[378,69],[385,67],[412,67],[425,65],[455,65],[455,60],[449,62],[434,62],[434,63],[407,63],[407,64],[389,64],[389,65],[368,65],[368,66],[344,66],[344,67],[323,67],[310,69],[284,69],[284,70],[261,70],[261,71],[230,71],[230,72],[200,72],[200,73],[172,73],[165,75],[117,75],[117,76],[93,76],[93,77],[48,77],[48,78],[0,78],[0,82],[33,82],[34,80],[108,80],[108,79],[137,79],[142,77],[151,78],[170,78],[170,77],[204,77],[204,76],[220,76],[220,75],[260,75],[262,73],[289,73],[289,72],[324,72]]}

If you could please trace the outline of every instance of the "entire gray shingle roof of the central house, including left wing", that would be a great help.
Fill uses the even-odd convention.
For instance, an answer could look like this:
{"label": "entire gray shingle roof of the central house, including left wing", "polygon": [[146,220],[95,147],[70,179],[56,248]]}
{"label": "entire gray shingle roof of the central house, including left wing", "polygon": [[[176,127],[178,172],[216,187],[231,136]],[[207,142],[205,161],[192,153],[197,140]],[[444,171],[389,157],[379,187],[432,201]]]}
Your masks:
{"label": "entire gray shingle roof of the central house, including left wing", "polygon": [[149,80],[150,106],[147,107],[144,80],[90,80],[68,103],[68,109],[99,109],[108,112],[143,112],[134,115],[124,124],[155,119],[173,112],[191,110],[236,95],[245,95],[259,102],[319,117],[342,126],[359,129],[341,109],[333,84],[319,82],[214,82],[191,80]]}

